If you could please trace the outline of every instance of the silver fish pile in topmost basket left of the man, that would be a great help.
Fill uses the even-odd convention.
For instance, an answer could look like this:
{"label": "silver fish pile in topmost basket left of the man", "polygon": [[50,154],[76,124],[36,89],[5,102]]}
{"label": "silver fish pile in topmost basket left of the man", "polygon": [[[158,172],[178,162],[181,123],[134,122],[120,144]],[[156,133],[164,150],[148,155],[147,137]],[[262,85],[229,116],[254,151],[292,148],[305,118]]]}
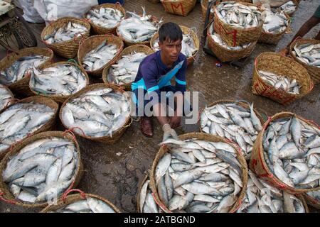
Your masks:
{"label": "silver fish pile in topmost basket left of the man", "polygon": [[102,28],[115,28],[122,18],[124,18],[122,11],[109,7],[92,9],[87,13],[87,19]]}

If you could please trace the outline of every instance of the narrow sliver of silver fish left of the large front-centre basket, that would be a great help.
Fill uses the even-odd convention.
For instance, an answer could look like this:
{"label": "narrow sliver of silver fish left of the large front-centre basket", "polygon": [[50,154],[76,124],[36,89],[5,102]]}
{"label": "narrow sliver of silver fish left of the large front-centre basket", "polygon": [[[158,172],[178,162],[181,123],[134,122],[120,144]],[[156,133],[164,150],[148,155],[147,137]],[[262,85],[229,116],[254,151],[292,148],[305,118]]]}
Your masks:
{"label": "narrow sliver of silver fish left of the large front-centre basket", "polygon": [[150,188],[150,179],[147,179],[146,182],[142,185],[139,194],[139,210],[140,213],[163,213],[160,206],[154,201],[152,196],[152,191]]}

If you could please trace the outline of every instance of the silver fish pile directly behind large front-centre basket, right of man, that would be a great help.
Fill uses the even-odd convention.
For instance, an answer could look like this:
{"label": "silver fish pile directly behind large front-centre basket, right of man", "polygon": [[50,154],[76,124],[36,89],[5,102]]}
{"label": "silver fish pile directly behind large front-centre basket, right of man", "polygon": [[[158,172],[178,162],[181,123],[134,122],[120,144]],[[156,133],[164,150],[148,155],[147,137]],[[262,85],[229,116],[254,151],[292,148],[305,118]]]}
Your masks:
{"label": "silver fish pile directly behind large front-centre basket, right of man", "polygon": [[200,124],[203,132],[238,143],[246,160],[250,159],[257,134],[262,129],[253,104],[245,109],[237,102],[206,107],[200,116]]}

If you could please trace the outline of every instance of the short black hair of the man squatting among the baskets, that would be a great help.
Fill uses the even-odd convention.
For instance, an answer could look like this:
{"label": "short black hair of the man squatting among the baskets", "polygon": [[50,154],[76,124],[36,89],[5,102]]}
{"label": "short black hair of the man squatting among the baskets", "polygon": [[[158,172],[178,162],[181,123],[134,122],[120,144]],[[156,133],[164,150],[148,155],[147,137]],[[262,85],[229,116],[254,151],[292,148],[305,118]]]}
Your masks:
{"label": "short black hair of the man squatting among the baskets", "polygon": [[181,28],[172,22],[164,23],[159,29],[159,40],[164,42],[164,40],[169,39],[170,42],[175,42],[176,40],[182,40]]}

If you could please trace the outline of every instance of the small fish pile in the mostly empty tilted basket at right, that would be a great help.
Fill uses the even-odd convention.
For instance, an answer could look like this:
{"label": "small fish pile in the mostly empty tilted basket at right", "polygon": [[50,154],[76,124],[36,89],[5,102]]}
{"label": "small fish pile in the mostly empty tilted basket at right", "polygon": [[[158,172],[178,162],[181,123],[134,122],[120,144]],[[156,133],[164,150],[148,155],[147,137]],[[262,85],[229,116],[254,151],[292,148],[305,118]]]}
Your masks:
{"label": "small fish pile in the mostly empty tilted basket at right", "polygon": [[282,89],[284,90],[284,92],[300,94],[301,86],[298,84],[296,79],[290,79],[289,77],[284,75],[277,75],[272,72],[265,72],[262,70],[259,70],[258,72],[260,77],[268,84],[271,84],[273,87]]}

